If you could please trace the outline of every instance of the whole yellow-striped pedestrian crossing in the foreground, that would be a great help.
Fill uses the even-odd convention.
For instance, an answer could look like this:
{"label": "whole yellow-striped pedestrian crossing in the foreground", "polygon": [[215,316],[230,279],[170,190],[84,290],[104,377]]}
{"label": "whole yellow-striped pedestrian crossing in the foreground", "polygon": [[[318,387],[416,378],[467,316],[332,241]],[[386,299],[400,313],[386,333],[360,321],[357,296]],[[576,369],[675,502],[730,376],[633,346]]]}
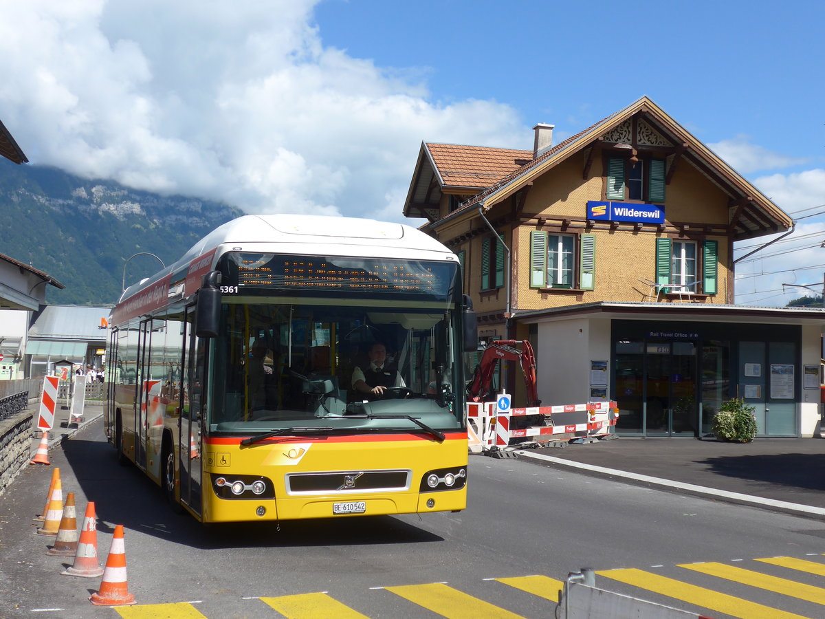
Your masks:
{"label": "whole yellow-striped pedestrian crossing in the foreground", "polygon": [[[565,574],[566,575],[566,574]],[[452,583],[404,584],[362,592],[310,592],[250,597],[233,605],[234,617],[290,619],[520,619],[554,617],[563,579],[527,575],[485,579],[473,593]],[[825,555],[656,565],[596,570],[596,587],[696,613],[694,617],[790,619],[825,617]],[[479,593],[481,592],[481,593]],[[528,599],[532,603],[526,603]],[[214,601],[115,607],[124,619],[219,619]]]}

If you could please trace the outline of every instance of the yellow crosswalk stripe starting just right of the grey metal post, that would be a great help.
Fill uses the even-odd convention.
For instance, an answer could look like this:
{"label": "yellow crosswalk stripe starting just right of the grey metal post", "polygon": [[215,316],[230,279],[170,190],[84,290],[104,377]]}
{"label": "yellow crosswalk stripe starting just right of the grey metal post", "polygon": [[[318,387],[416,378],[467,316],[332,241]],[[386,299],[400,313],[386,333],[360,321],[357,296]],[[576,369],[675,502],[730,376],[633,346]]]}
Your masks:
{"label": "yellow crosswalk stripe starting just right of the grey metal post", "polygon": [[682,602],[709,608],[716,612],[724,612],[731,617],[742,617],[742,619],[803,619],[801,615],[762,606],[756,602],[749,602],[733,595],[697,587],[694,584],[683,583],[681,580],[670,579],[667,576],[651,574],[642,569],[605,569],[596,572],[596,574],[618,580],[620,583],[632,584],[634,587],[667,595],[669,598],[681,600]]}

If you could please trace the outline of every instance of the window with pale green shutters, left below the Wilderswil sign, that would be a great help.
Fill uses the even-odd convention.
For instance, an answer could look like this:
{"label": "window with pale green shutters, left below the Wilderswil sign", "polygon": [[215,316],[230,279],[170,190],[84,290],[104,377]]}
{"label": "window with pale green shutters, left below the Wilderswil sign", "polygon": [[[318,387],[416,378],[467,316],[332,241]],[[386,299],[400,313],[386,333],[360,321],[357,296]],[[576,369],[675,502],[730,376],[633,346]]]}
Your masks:
{"label": "window with pale green shutters, left below the Wilderswil sign", "polygon": [[593,234],[530,232],[530,286],[592,291],[596,271]]}

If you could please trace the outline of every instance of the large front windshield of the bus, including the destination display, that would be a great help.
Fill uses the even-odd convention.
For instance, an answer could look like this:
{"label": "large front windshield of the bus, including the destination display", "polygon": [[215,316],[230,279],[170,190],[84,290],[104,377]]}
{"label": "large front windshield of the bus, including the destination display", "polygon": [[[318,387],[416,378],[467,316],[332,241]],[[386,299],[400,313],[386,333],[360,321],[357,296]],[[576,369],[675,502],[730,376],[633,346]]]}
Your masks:
{"label": "large front windshield of the bus, including the destination display", "polygon": [[210,433],[464,427],[457,265],[230,253],[221,271]]}

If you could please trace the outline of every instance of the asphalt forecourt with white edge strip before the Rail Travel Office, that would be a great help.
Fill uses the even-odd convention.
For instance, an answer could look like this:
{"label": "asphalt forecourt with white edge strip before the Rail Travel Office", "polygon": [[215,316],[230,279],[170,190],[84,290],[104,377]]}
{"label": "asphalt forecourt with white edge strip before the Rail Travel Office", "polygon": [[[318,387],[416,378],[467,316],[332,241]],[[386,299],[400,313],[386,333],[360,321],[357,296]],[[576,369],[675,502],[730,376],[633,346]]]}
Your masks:
{"label": "asphalt forecourt with white edge strip before the Rail Travel Office", "polygon": [[563,449],[517,450],[557,466],[754,503],[787,513],[825,516],[825,440],[757,438],[729,443],[695,438],[629,438]]}

